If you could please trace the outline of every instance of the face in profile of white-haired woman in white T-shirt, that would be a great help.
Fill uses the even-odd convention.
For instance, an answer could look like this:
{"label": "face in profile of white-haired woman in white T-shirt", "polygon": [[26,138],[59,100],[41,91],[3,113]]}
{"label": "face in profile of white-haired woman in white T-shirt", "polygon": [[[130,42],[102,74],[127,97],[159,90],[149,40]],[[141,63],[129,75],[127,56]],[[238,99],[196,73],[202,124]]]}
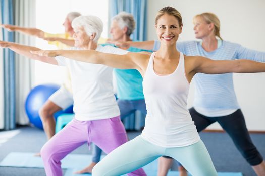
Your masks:
{"label": "face in profile of white-haired woman in white T-shirt", "polygon": [[87,46],[91,38],[86,34],[83,26],[78,26],[74,29],[73,38],[75,40],[75,47],[82,48]]}

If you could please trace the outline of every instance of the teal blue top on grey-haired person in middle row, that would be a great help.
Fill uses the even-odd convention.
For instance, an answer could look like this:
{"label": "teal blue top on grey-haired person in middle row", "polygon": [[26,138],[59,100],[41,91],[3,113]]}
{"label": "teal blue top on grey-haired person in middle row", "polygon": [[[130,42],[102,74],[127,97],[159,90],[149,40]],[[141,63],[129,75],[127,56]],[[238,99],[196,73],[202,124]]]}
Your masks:
{"label": "teal blue top on grey-haired person in middle row", "polygon": [[[110,45],[110,44],[104,44]],[[104,46],[103,45],[103,46]],[[116,47],[115,45],[111,45]],[[152,52],[148,50],[130,47],[127,49],[130,52]],[[114,69],[114,74],[117,79],[117,97],[121,100],[140,100],[144,99],[143,96],[143,78],[139,71],[136,69]]]}

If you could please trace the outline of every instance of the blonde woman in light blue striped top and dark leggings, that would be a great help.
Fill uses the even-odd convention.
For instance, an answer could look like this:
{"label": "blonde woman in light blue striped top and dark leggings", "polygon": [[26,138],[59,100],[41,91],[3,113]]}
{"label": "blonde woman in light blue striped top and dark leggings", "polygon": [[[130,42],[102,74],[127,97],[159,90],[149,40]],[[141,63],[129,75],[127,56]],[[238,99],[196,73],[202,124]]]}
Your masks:
{"label": "blonde woman in light blue striped top and dark leggings", "polygon": [[[220,36],[220,21],[213,13],[202,13],[193,19],[194,32],[202,41],[179,42],[177,48],[186,55],[200,55],[214,60],[249,59],[265,62],[265,52],[258,52],[239,44],[224,41]],[[155,42],[154,50],[159,49]],[[198,132],[218,122],[232,138],[235,146],[258,176],[265,175],[265,162],[253,144],[244,116],[237,102],[232,73],[197,74],[194,77],[193,107],[189,109]],[[160,159],[161,172],[167,173],[171,160]],[[165,170],[166,169],[166,170]],[[183,170],[183,169],[181,169]],[[164,174],[161,174],[162,176]],[[165,174],[166,175],[166,174]]]}

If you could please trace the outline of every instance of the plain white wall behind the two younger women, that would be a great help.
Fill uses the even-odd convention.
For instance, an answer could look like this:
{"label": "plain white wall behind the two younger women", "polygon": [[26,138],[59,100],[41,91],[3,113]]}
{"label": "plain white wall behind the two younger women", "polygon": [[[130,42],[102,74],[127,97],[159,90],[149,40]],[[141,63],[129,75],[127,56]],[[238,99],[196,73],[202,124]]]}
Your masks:
{"label": "plain white wall behind the two younger women", "polygon": [[[265,52],[264,0],[148,0],[148,40],[156,39],[154,18],[165,6],[176,8],[183,18],[179,41],[194,40],[192,18],[203,12],[215,13],[221,21],[221,37],[250,49]],[[265,131],[265,73],[234,74],[235,91],[244,113],[248,130]],[[193,100],[190,89],[188,107]],[[208,129],[221,129],[218,124]]]}

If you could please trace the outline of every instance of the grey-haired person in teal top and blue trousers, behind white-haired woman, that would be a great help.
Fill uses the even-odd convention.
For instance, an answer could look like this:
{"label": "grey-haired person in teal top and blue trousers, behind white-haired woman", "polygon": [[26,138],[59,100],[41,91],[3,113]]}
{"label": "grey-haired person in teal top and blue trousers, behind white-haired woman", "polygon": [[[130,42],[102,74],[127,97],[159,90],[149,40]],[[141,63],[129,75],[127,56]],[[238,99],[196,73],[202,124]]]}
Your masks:
{"label": "grey-haired person in teal top and blue trousers, behind white-haired woman", "polygon": [[[132,14],[120,12],[112,18],[110,33],[112,41],[132,41],[130,35],[135,29],[135,21]],[[112,45],[114,46],[114,45]],[[130,52],[151,52],[134,47],[122,48]],[[117,103],[121,112],[121,120],[125,119],[136,110],[143,117],[146,116],[146,106],[143,96],[142,76],[136,69],[114,69],[117,82]],[[102,150],[95,145],[92,152],[92,162],[84,169],[76,173],[91,173],[93,167],[100,161]]]}

